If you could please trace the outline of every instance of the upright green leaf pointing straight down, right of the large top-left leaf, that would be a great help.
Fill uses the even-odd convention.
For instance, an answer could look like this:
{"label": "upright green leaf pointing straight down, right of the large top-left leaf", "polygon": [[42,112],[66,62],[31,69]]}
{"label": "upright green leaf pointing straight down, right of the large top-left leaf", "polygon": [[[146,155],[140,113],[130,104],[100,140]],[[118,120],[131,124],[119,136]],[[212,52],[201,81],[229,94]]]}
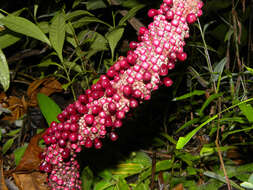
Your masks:
{"label": "upright green leaf pointing straight down, right of the large top-left leaf", "polygon": [[63,13],[57,14],[53,18],[49,29],[49,39],[61,62],[63,62],[62,48],[65,39],[65,18]]}

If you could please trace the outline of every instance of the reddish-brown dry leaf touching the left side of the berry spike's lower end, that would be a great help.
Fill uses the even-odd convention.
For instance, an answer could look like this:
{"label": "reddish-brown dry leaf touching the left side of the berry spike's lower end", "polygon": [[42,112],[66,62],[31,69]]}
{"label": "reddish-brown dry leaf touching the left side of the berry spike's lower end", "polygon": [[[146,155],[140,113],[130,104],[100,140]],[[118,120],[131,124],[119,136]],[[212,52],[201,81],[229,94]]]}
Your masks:
{"label": "reddish-brown dry leaf touching the left side of the berry spike's lower end", "polygon": [[40,133],[31,139],[21,161],[19,162],[19,165],[15,169],[15,172],[29,172],[39,169],[41,162],[39,154],[43,151],[43,149],[38,146],[38,142],[41,139],[42,135],[43,133]]}

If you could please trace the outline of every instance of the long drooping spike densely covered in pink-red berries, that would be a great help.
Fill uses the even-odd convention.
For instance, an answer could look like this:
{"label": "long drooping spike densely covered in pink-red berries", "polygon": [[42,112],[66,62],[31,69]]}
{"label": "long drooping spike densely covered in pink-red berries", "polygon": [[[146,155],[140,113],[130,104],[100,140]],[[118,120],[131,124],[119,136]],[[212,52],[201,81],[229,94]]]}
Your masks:
{"label": "long drooping spike densely covered in pink-red berries", "polygon": [[202,15],[200,0],[164,0],[158,10],[150,9],[154,21],[141,27],[138,42],[130,42],[126,57],[119,57],[106,75],[100,76],[78,100],[58,115],[44,135],[47,145],[40,169],[49,174],[52,190],[81,189],[76,153],[81,147],[102,147],[101,139],[117,140],[115,130],[127,114],[160,85],[172,85],[167,76],[176,61],[184,61],[189,24]]}

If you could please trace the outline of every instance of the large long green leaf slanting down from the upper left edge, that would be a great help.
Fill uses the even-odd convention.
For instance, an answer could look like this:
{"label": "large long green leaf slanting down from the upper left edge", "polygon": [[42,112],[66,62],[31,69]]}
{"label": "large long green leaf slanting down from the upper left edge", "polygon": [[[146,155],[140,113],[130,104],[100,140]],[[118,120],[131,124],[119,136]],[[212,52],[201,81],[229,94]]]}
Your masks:
{"label": "large long green leaf slanting down from the upper left edge", "polygon": [[8,15],[1,18],[0,22],[14,32],[35,38],[51,46],[49,39],[40,30],[40,28],[25,18]]}

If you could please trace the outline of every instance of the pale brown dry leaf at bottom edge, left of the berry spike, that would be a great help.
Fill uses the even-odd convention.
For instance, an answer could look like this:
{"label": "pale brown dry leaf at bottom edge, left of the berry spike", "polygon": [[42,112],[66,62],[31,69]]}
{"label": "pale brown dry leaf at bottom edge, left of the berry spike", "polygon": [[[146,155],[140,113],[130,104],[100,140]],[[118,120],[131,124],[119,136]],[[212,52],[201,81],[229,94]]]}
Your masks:
{"label": "pale brown dry leaf at bottom edge, left of the berry spike", "polygon": [[12,174],[16,185],[19,190],[49,190],[46,183],[47,174],[41,172],[31,172],[31,173],[13,173]]}

